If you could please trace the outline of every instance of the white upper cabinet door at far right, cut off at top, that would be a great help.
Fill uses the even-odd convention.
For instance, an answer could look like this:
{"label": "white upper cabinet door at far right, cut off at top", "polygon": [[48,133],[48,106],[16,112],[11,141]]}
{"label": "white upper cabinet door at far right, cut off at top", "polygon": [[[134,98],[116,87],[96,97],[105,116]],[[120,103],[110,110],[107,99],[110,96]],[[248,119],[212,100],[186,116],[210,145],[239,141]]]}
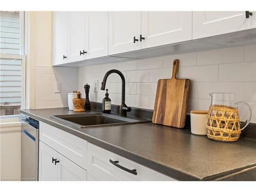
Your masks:
{"label": "white upper cabinet door at far right, cut off at top", "polygon": [[193,39],[256,27],[256,12],[245,18],[245,11],[193,11]]}

